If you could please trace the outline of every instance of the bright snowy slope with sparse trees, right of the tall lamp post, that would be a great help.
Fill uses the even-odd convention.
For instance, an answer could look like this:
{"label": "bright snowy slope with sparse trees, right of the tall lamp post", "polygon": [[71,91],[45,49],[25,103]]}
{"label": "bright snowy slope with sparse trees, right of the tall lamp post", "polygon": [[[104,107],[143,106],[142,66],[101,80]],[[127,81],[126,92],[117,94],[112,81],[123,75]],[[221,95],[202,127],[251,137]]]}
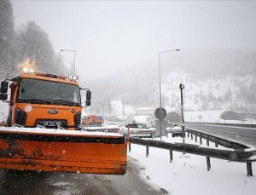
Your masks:
{"label": "bright snowy slope with sparse trees, right of the tall lamp post", "polygon": [[[183,90],[184,108],[187,110],[230,109],[230,107],[248,107],[243,90],[253,85],[253,75],[244,77],[218,76],[196,79],[191,74],[177,71],[163,78],[162,94],[166,110],[179,107],[179,83]],[[172,98],[171,98],[172,97]]]}

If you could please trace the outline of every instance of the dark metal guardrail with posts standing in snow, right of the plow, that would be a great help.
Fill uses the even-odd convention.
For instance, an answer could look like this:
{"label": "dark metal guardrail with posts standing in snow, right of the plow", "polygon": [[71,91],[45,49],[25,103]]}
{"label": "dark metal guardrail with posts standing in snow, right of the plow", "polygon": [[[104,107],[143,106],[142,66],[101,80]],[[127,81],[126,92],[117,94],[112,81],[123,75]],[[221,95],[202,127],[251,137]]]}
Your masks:
{"label": "dark metal guardrail with posts standing in snow, right of the plow", "polygon": [[207,158],[207,170],[211,169],[210,158],[219,158],[240,163],[247,163],[247,176],[253,176],[252,162],[256,161],[256,149],[217,149],[193,144],[167,143],[164,141],[143,140],[140,138],[130,137],[129,152],[131,152],[131,143],[146,146],[147,157],[149,153],[149,146],[169,150],[171,162],[173,159],[172,151],[205,156]]}

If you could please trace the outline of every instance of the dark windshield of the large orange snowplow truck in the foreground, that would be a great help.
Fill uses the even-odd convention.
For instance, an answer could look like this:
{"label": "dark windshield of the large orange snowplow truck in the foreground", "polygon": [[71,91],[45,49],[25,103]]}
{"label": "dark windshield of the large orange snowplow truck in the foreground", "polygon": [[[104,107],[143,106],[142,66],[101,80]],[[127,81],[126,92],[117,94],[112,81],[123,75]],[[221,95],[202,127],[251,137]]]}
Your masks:
{"label": "dark windshield of the large orange snowplow truck in the foreground", "polygon": [[17,102],[80,106],[78,85],[23,78]]}

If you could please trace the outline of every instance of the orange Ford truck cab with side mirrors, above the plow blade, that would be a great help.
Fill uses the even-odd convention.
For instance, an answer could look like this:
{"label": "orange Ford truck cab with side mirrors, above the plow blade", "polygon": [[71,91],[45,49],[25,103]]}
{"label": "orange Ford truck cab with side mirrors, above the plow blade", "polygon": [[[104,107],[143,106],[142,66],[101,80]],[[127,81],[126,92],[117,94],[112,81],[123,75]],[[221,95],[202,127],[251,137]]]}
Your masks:
{"label": "orange Ford truck cab with side mirrors, above the plow blade", "polygon": [[[7,101],[7,126],[77,129],[81,123],[82,102],[77,77],[62,77],[27,70],[19,77],[1,83],[0,100]],[[86,89],[85,106],[90,106],[90,90]]]}

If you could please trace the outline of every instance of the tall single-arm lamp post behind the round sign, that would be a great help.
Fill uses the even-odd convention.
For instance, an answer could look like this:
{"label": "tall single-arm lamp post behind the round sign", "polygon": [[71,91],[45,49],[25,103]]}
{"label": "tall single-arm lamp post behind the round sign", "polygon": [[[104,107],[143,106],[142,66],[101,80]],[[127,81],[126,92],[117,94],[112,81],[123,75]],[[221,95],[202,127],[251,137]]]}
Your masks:
{"label": "tall single-arm lamp post behind the round sign", "polygon": [[[159,100],[160,100],[160,116],[162,115],[162,94],[161,94],[161,54],[171,53],[180,51],[180,49],[172,49],[166,51],[160,51],[158,53],[158,60],[159,60]],[[160,120],[160,141],[162,141],[162,120]]]}

